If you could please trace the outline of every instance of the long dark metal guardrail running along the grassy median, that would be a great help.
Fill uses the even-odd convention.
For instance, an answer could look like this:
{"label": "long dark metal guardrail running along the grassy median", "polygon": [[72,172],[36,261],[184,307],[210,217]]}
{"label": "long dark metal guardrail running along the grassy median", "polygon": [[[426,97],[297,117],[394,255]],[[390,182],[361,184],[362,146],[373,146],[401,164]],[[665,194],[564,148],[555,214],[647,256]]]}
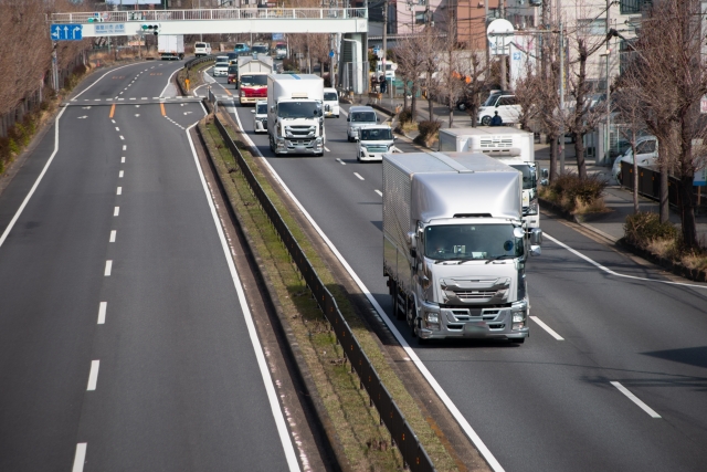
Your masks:
{"label": "long dark metal guardrail running along the grassy median", "polygon": [[287,248],[289,255],[302,273],[305,283],[312,291],[312,294],[317,301],[324,316],[334,327],[337,340],[344,348],[346,357],[350,363],[351,371],[356,371],[358,374],[361,388],[366,389],[370,399],[370,405],[374,406],[380,413],[380,422],[381,424],[386,424],[386,428],[390,431],[392,441],[400,450],[403,461],[413,472],[434,471],[435,469],[432,460],[418,440],[418,437],[405,420],[405,417],[398,408],[398,405],[395,405],[394,400],[388,392],[388,389],[382,384],[380,376],[376,371],[376,368],[369,360],[368,356],[363,353],[363,349],[361,349],[356,336],[354,336],[354,332],[344,318],[344,315],[341,315],[334,296],[331,296],[331,293],[329,293],[324,285],[324,282],[321,282],[317,275],[314,266],[305,255],[305,252],[289,231],[287,223],[285,223],[282,216],[261,187],[251,167],[245,161],[238,146],[233,143],[233,139],[231,139],[225,127],[215,114],[213,122],[226,144],[226,147],[231,154],[233,154],[236,162],[241,167],[241,171],[251,187],[251,190],[270,218],[283,244]]}

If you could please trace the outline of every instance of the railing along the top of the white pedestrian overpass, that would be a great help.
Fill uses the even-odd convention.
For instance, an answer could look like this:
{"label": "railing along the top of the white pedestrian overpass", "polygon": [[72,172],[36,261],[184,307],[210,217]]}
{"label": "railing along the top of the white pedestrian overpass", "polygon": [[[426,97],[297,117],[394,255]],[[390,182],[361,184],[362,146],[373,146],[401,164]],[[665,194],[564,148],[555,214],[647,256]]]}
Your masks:
{"label": "railing along the top of the white pedestrian overpass", "polygon": [[334,20],[368,18],[366,8],[214,8],[52,13],[50,23],[126,23],[129,21],[199,21],[241,19]]}

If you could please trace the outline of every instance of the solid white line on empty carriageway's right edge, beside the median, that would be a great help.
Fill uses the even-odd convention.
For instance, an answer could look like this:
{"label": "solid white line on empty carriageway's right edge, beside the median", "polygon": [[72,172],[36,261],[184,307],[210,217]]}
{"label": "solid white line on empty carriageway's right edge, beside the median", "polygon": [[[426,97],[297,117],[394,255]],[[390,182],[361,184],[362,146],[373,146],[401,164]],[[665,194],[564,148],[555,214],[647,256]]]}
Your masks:
{"label": "solid white line on empty carriageway's right edge, beside the median", "polygon": [[275,426],[277,427],[279,441],[285,452],[285,459],[287,460],[287,465],[289,466],[291,471],[299,471],[299,463],[297,462],[295,448],[292,442],[292,437],[289,436],[289,432],[287,430],[287,423],[285,422],[285,417],[279,407],[279,400],[277,399],[277,392],[275,391],[273,378],[270,374],[270,370],[267,369],[267,361],[265,360],[265,355],[263,354],[263,346],[261,345],[261,342],[257,337],[257,332],[255,329],[255,324],[253,322],[253,315],[251,314],[251,310],[247,306],[247,303],[245,301],[245,292],[243,291],[243,286],[241,285],[241,280],[239,277],[239,274],[235,271],[233,258],[231,256],[231,251],[229,250],[229,243],[225,240],[225,235],[223,233],[223,228],[221,227],[219,214],[217,213],[215,206],[213,203],[213,200],[211,199],[211,193],[209,192],[209,186],[207,185],[207,179],[204,178],[203,172],[201,171],[201,165],[199,164],[199,157],[197,156],[197,149],[194,148],[194,143],[191,139],[191,135],[189,134],[191,128],[194,126],[196,124],[191,125],[187,129],[187,138],[189,140],[189,146],[191,147],[191,153],[193,154],[194,165],[197,166],[197,171],[199,172],[199,178],[201,179],[201,186],[203,187],[203,191],[207,196],[207,201],[209,202],[209,208],[211,209],[213,223],[217,227],[217,233],[219,234],[219,239],[221,240],[221,248],[225,256],[225,262],[229,266],[229,271],[231,272],[233,286],[235,287],[235,293],[241,304],[241,311],[243,312],[243,317],[245,318],[245,326],[247,327],[251,343],[253,344],[253,350],[255,353],[255,358],[257,359],[257,366],[260,368],[261,376],[263,378],[263,385],[265,387],[265,391],[267,392],[267,399],[270,401],[271,411],[275,420]]}

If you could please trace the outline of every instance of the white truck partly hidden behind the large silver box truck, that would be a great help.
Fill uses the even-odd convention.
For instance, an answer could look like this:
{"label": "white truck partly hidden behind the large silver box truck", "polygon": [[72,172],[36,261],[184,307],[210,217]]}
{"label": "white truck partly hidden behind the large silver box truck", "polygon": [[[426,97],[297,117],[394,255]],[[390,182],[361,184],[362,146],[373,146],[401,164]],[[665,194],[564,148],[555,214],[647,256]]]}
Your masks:
{"label": "white truck partly hidden behind the large silver box truck", "polygon": [[519,170],[523,174],[523,219],[528,229],[540,228],[532,133],[502,126],[440,129],[440,150],[483,153]]}

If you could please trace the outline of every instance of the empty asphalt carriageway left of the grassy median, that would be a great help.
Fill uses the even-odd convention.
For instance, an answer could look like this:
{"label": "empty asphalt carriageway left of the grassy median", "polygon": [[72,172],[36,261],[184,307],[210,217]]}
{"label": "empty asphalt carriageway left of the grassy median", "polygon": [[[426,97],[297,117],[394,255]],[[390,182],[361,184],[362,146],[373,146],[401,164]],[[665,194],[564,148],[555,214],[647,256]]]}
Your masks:
{"label": "empty asphalt carriageway left of the grassy median", "polygon": [[154,101],[179,67],[94,74],[0,196],[2,471],[299,470],[186,132],[203,108]]}

